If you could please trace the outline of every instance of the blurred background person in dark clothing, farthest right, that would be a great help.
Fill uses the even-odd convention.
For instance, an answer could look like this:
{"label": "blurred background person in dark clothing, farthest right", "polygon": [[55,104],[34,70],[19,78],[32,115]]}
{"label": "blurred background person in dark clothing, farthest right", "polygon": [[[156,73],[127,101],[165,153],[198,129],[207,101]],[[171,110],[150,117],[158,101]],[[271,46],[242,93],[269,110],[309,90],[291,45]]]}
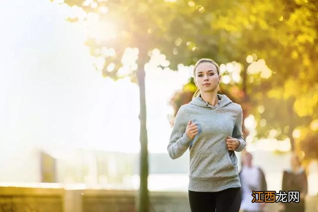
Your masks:
{"label": "blurred background person in dark clothing, farthest right", "polygon": [[[293,152],[290,168],[283,171],[282,191],[299,191],[299,203],[279,203],[280,212],[305,212],[305,197],[308,192],[308,182],[305,169],[298,155]],[[287,198],[288,199],[288,198]]]}

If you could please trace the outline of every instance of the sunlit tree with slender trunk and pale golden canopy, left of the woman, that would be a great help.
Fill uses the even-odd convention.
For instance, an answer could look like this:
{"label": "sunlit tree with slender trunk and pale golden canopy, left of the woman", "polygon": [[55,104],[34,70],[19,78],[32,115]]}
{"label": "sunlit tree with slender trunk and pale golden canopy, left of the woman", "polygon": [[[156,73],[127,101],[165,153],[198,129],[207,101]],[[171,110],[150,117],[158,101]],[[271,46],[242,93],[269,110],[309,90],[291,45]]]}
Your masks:
{"label": "sunlit tree with slender trunk and pale golden canopy, left of the woman", "polygon": [[[65,0],[74,10],[88,15],[96,14],[101,25],[105,22],[116,23],[116,36],[109,39],[94,37],[88,38],[86,44],[93,56],[99,55],[98,60],[104,77],[117,80],[130,77],[132,82],[138,83],[140,88],[140,197],[139,211],[147,212],[149,208],[148,197],[148,151],[146,129],[146,101],[145,101],[145,71],[144,65],[149,60],[149,51],[158,48],[170,61],[161,64],[161,67],[176,69],[179,63],[193,62],[197,53],[196,44],[191,39],[197,35],[196,31],[189,29],[208,26],[200,20],[203,12],[200,5],[189,5],[185,1],[166,2],[154,0]],[[87,17],[86,16],[86,17]],[[83,15],[85,20],[85,15]],[[69,21],[78,21],[79,16],[70,17]],[[102,27],[102,26],[101,26]],[[107,34],[105,34],[105,37]],[[101,35],[103,36],[103,35]],[[212,41],[212,40],[211,40]],[[212,43],[215,43],[213,41]],[[128,66],[126,75],[120,74],[122,58],[128,47],[138,51],[136,65]],[[135,48],[138,48],[137,50]],[[111,50],[111,56],[100,56],[103,50]],[[191,58],[191,59],[190,59]],[[101,66],[101,67],[100,67]],[[136,71],[137,70],[137,71]]]}

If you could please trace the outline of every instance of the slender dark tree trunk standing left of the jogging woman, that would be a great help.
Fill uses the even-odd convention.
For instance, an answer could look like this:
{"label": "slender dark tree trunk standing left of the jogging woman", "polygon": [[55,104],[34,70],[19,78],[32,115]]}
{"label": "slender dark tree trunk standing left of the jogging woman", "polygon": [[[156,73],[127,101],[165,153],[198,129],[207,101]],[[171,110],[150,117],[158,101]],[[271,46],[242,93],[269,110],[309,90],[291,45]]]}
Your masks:
{"label": "slender dark tree trunk standing left of the jogging woman", "polygon": [[144,60],[138,64],[138,84],[140,94],[140,189],[137,211],[149,211],[149,196],[148,196],[148,139],[146,128],[146,97],[145,97],[145,70]]}

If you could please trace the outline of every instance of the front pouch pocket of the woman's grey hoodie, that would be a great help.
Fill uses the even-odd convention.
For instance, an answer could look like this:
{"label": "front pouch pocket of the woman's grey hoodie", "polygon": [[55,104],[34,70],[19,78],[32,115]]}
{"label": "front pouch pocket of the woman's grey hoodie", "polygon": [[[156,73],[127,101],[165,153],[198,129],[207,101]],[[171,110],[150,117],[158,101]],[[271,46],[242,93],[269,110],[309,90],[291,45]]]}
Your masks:
{"label": "front pouch pocket of the woman's grey hoodie", "polygon": [[236,176],[228,151],[201,152],[190,165],[190,178],[227,178]]}

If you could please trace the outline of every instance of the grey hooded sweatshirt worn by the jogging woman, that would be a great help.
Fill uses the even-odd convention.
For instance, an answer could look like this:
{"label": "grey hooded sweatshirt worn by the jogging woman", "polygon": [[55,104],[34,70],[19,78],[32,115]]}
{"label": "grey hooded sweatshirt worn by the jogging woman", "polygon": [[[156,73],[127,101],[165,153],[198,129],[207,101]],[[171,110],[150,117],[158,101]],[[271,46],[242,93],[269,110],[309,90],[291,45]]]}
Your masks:
{"label": "grey hooded sweatshirt worn by the jogging woman", "polygon": [[[181,106],[175,117],[167,150],[169,156],[176,159],[189,148],[190,191],[218,192],[241,187],[238,158],[235,151],[228,150],[226,139],[229,135],[239,140],[237,152],[245,148],[241,131],[242,108],[226,95],[217,96],[219,104],[212,106],[198,95]],[[185,133],[189,120],[199,129],[193,140]]]}

